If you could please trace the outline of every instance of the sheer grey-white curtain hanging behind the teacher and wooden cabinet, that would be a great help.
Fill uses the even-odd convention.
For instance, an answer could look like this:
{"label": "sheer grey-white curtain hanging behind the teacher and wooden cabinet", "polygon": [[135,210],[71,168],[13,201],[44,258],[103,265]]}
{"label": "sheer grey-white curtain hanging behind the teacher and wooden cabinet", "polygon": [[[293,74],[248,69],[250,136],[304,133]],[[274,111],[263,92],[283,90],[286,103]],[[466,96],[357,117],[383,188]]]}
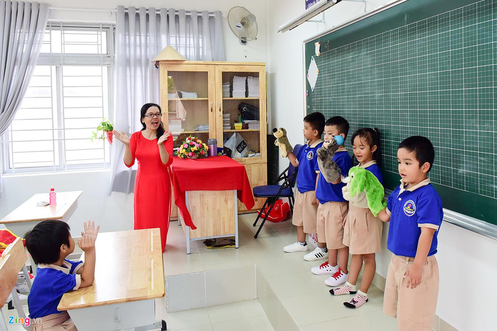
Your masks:
{"label": "sheer grey-white curtain hanging behind the teacher and wooden cabinet", "polygon": [[[128,134],[141,130],[140,108],[147,102],[160,103],[159,69],[151,62],[166,46],[187,60],[225,61],[221,11],[191,16],[185,10],[117,7],[116,89],[114,129]],[[123,163],[124,145],[112,144],[109,195],[130,193],[134,172]]]}

